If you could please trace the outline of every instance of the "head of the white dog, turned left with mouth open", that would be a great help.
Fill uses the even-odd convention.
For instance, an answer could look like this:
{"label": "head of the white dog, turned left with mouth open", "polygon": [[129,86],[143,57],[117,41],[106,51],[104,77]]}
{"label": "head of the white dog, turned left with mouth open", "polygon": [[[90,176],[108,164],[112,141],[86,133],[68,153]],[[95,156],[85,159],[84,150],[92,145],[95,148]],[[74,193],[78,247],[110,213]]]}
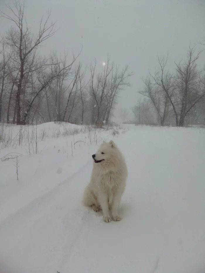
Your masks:
{"label": "head of the white dog, turned left with mouth open", "polygon": [[103,164],[113,160],[115,158],[115,150],[116,145],[112,140],[110,142],[103,141],[98,151],[92,155],[94,162],[96,164]]}

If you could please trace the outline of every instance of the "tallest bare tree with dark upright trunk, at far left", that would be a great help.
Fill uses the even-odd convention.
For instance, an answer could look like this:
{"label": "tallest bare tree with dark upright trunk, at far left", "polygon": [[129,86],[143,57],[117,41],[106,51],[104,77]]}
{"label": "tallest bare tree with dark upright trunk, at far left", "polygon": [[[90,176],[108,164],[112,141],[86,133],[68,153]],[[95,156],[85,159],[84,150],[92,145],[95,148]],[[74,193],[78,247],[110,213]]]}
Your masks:
{"label": "tallest bare tree with dark upright trunk, at far left", "polygon": [[[22,87],[23,80],[27,77],[30,71],[36,69],[34,66],[30,66],[29,70],[27,70],[28,61],[30,62],[34,56],[36,49],[42,44],[44,41],[52,37],[55,33],[54,25],[55,23],[48,24],[51,13],[49,12],[45,22],[43,23],[43,18],[40,21],[38,35],[35,37],[30,28],[28,28],[27,23],[24,18],[24,4],[21,4],[20,1],[16,1],[14,4],[14,8],[11,6],[7,6],[11,14],[13,16],[7,15],[6,13],[1,12],[2,17],[12,21],[17,30],[11,28],[9,32],[7,32],[7,44],[14,51],[13,61],[20,71],[19,79],[18,79],[18,89],[16,92],[16,121],[17,124],[24,123],[21,120],[21,95],[22,95]],[[35,66],[38,66],[35,64]],[[42,63],[40,63],[42,66]],[[25,116],[24,118],[25,119]]]}

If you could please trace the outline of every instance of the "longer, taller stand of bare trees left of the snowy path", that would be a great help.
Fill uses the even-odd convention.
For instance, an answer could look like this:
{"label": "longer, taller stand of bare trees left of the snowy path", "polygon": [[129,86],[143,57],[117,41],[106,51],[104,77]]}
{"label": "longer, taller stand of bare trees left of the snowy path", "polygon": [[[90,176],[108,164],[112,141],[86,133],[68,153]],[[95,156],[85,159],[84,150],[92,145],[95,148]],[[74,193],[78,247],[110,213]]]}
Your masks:
{"label": "longer, taller stand of bare trees left of the snowy path", "polygon": [[42,57],[40,46],[56,32],[55,23],[49,23],[51,13],[41,19],[35,34],[25,20],[24,3],[7,8],[9,15],[1,16],[12,26],[1,40],[0,122],[108,124],[120,91],[130,86],[129,66],[119,70],[108,55],[104,71],[98,73],[96,60],[83,68],[81,52],[72,59],[57,52]]}

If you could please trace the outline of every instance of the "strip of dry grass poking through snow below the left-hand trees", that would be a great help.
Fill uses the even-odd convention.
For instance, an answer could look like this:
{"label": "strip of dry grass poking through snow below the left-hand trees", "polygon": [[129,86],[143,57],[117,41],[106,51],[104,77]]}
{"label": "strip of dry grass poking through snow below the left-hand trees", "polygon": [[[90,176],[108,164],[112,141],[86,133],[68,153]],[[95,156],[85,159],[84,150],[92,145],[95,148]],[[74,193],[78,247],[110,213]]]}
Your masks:
{"label": "strip of dry grass poking through snow below the left-hand trees", "polygon": [[71,137],[78,134],[85,134],[89,144],[99,145],[102,141],[101,133],[110,131],[115,137],[119,135],[120,126],[76,126],[69,123],[55,123],[54,126],[44,127],[43,125],[21,125],[0,123],[0,150],[19,146],[24,146],[29,155],[38,153],[38,142],[45,141],[50,138]]}

